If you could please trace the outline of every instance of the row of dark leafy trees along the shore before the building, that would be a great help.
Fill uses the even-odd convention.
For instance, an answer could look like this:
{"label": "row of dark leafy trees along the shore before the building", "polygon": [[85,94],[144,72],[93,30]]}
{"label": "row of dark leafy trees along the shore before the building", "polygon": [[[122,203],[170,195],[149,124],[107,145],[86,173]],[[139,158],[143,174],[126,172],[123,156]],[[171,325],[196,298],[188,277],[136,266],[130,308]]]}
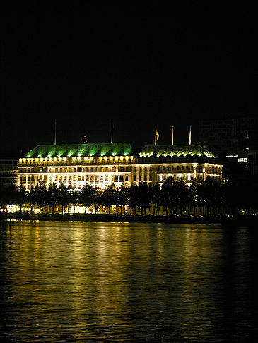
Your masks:
{"label": "row of dark leafy trees along the shore before the building", "polygon": [[[204,183],[194,180],[190,186],[182,180],[175,181],[169,177],[162,186],[158,183],[155,186],[139,183],[138,186],[119,189],[111,185],[104,190],[89,185],[76,190],[64,184],[57,187],[55,183],[47,188],[45,183],[38,183],[35,188],[26,191],[23,186],[0,185],[0,213],[7,215],[15,208],[16,215],[47,215],[45,207],[48,206],[51,208],[48,215],[61,214],[64,217],[75,215],[71,207],[80,206],[85,213],[95,216],[107,214],[170,219],[240,215],[256,217],[257,191],[256,185],[247,187],[246,184],[222,183],[209,177]],[[57,205],[61,211],[56,211]],[[201,208],[201,212],[197,208]]]}

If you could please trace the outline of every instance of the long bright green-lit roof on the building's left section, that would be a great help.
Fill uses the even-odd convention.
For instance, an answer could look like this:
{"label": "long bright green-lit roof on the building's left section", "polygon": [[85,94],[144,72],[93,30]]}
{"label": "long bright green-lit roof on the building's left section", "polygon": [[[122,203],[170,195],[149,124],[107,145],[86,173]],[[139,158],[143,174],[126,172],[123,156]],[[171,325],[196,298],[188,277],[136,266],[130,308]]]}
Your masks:
{"label": "long bright green-lit roof on the building's left section", "polygon": [[132,155],[130,143],[37,145],[25,157],[77,157]]}

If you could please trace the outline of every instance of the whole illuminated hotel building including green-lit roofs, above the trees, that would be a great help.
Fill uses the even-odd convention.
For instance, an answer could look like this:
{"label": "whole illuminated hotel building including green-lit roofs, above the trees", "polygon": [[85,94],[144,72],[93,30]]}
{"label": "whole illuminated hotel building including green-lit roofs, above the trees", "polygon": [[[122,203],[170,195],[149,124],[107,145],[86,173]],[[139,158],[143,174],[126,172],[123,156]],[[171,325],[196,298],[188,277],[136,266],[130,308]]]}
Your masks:
{"label": "whole illuminated hotel building including green-lit roofs, above the trees", "polygon": [[168,177],[190,185],[207,176],[222,179],[223,165],[200,145],[146,145],[134,154],[130,143],[38,145],[18,161],[18,186],[45,183],[80,190],[86,184],[105,189],[140,182],[160,186]]}

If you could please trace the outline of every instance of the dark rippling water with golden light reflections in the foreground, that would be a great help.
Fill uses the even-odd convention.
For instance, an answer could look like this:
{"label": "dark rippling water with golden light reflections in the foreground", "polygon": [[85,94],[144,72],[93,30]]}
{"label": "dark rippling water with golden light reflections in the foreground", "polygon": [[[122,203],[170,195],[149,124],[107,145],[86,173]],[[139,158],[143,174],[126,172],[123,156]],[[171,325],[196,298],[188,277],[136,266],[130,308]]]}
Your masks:
{"label": "dark rippling water with golden light reflections in the foreground", "polygon": [[257,342],[257,231],[8,222],[1,342]]}

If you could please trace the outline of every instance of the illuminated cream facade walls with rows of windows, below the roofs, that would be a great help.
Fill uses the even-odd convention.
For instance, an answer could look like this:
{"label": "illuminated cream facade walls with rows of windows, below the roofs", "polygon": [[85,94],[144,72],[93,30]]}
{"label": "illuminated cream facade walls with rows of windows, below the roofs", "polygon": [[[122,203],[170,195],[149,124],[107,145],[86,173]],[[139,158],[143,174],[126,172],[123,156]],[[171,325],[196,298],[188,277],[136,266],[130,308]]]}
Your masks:
{"label": "illuminated cream facade walls with rows of windows, below the roofs", "polygon": [[[182,179],[188,185],[194,179],[204,182],[207,176],[222,179],[221,164],[214,163],[151,163],[139,164],[132,156],[116,157],[42,157],[23,158],[18,162],[18,186],[27,190],[37,183],[47,186],[56,183],[81,189],[86,184],[101,189],[112,183],[120,186],[138,185],[140,182],[152,185],[165,182],[172,176]],[[211,161],[213,162],[213,161]]]}

